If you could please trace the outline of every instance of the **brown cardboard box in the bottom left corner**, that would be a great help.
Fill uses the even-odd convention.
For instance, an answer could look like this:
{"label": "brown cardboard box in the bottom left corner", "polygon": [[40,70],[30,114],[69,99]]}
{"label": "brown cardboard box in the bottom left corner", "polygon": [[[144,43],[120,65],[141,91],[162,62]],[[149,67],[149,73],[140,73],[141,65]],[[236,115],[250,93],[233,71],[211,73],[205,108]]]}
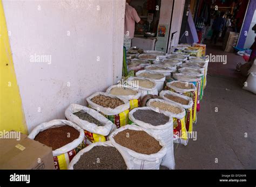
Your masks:
{"label": "brown cardboard box in the bottom left corner", "polygon": [[52,148],[20,135],[0,139],[0,169],[55,169]]}

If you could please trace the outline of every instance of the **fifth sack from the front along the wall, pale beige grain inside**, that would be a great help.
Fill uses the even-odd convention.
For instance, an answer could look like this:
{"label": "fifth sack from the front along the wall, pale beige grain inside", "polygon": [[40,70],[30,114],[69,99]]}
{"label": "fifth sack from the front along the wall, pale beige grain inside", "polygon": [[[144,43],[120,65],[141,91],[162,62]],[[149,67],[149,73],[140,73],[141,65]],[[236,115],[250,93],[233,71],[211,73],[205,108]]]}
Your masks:
{"label": "fifth sack from the front along the wall, pale beige grain inside", "polygon": [[148,94],[158,95],[157,83],[148,78],[129,77],[127,78],[127,84],[129,84],[129,88],[137,88],[141,93],[141,98]]}

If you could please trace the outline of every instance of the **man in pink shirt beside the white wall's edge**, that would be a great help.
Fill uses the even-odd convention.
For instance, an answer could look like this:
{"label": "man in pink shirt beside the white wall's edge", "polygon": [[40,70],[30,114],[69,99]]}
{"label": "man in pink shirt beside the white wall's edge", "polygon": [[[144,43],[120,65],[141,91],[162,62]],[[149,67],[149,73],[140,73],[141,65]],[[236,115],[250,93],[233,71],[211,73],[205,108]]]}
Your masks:
{"label": "man in pink shirt beside the white wall's edge", "polygon": [[129,4],[132,0],[126,0],[125,19],[124,19],[124,46],[126,49],[131,47],[131,40],[134,37],[135,22],[143,25],[144,21],[140,19],[137,11]]}

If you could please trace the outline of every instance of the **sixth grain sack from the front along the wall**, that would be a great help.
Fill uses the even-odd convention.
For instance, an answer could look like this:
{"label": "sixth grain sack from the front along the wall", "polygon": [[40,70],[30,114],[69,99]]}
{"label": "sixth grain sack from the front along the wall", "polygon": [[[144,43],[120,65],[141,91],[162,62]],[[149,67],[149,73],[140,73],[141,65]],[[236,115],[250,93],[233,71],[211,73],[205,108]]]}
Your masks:
{"label": "sixth grain sack from the front along the wall", "polygon": [[153,80],[153,81],[156,82],[158,92],[160,92],[161,90],[163,90],[164,81],[165,81],[165,76],[164,76],[164,74],[161,74],[161,73],[153,73],[152,71],[148,71],[148,70],[142,70],[142,71],[138,71],[138,72],[136,73],[136,77],[140,77],[140,78],[149,78],[150,80]]}

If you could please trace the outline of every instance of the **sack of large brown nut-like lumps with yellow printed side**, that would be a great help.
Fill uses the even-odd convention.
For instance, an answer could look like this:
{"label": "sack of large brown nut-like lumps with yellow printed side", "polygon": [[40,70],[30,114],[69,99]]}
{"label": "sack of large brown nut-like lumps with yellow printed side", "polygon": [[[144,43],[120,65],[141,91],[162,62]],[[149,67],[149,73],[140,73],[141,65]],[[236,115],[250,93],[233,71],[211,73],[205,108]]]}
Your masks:
{"label": "sack of large brown nut-like lumps with yellow printed side", "polygon": [[103,114],[117,128],[129,124],[129,100],[105,92],[96,92],[87,97],[86,101],[88,107]]}

